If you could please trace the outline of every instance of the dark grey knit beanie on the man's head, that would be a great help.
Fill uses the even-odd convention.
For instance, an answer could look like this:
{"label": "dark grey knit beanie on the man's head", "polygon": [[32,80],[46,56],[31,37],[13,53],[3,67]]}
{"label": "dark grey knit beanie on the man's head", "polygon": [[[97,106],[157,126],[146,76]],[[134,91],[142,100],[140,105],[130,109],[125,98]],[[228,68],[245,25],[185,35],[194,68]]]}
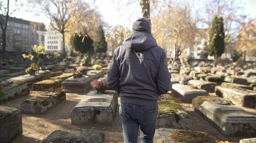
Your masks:
{"label": "dark grey knit beanie on the man's head", "polygon": [[151,24],[145,18],[137,19],[132,25],[133,32],[145,32],[151,34]]}

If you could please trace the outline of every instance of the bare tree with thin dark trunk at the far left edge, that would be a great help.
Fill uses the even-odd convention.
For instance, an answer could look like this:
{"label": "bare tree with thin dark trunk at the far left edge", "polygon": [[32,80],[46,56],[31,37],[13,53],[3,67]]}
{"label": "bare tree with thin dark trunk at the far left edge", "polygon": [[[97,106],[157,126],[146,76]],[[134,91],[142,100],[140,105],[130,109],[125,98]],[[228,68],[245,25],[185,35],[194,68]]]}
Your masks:
{"label": "bare tree with thin dark trunk at the far left edge", "polygon": [[[14,2],[15,4],[10,4],[10,2]],[[7,30],[7,22],[8,18],[15,12],[19,11],[24,3],[25,0],[0,0],[0,27],[2,30],[2,58],[6,58],[6,30]]]}

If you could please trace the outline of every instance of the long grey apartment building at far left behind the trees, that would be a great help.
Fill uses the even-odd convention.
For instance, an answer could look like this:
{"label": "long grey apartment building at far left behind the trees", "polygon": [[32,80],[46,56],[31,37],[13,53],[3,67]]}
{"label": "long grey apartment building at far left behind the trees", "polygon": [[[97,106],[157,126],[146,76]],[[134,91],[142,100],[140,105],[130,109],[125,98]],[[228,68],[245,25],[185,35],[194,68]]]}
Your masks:
{"label": "long grey apartment building at far left behind the trees", "polygon": [[[0,19],[4,21],[5,17],[0,15]],[[9,17],[6,30],[6,51],[33,53],[32,46],[42,43],[41,40],[44,39],[42,35],[45,31],[43,23]],[[2,36],[0,38],[2,39]],[[2,43],[0,50],[2,50]]]}

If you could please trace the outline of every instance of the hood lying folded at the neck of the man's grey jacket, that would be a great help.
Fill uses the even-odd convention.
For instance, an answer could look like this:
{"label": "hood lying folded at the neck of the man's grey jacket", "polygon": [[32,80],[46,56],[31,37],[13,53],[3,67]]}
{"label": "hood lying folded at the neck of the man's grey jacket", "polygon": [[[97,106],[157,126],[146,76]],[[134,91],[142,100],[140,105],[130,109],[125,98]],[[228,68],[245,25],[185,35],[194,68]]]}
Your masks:
{"label": "hood lying folded at the neck of the man's grey jacket", "polygon": [[131,50],[143,51],[156,46],[157,42],[150,34],[145,32],[134,32],[131,36],[128,36],[125,39],[123,44]]}

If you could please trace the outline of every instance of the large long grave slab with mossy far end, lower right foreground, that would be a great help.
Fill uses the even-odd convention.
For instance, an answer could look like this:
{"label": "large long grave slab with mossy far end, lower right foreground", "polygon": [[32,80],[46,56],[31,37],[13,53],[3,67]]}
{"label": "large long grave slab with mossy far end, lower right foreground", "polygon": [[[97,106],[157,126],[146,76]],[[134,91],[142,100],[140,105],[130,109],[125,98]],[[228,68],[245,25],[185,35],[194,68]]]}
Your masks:
{"label": "large long grave slab with mossy far end, lower right foreground", "polygon": [[195,112],[224,136],[246,136],[256,133],[256,115],[230,105],[224,98],[199,96],[193,99]]}

